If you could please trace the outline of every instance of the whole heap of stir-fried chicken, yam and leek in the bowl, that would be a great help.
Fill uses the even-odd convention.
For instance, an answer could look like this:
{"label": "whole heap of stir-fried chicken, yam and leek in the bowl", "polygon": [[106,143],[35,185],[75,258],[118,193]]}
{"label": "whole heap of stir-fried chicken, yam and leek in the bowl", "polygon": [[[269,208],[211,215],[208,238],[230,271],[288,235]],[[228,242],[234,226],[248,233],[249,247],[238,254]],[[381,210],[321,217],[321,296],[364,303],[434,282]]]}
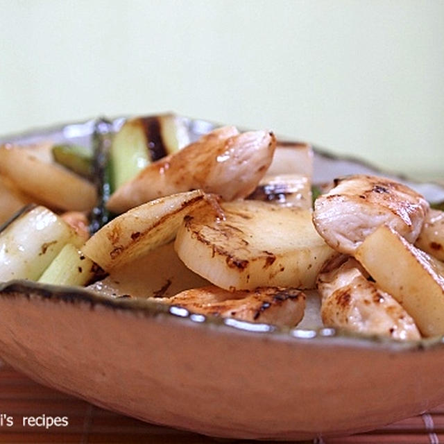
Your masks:
{"label": "whole heap of stir-fried chicken, yam and leek in the bowl", "polygon": [[[188,144],[186,131],[170,114],[128,121],[102,158],[112,195],[99,203],[83,148],[1,146],[0,221],[39,206],[0,229],[0,281],[290,327],[317,291],[323,325],[396,340],[444,334],[443,212],[368,175],[317,187],[328,191],[312,207],[308,144],[234,126]],[[119,216],[90,234],[96,210]]]}

